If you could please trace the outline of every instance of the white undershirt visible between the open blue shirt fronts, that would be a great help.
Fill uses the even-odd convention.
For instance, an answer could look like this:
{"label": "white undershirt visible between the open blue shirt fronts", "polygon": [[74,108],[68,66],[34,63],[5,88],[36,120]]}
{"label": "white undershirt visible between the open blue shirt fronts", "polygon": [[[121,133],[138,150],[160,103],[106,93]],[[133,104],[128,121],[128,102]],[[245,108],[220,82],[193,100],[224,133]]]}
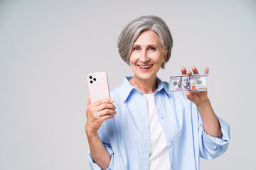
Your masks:
{"label": "white undershirt visible between the open blue shirt fronts", "polygon": [[166,170],[170,169],[170,160],[167,149],[166,137],[163,128],[159,123],[154,103],[154,94],[144,94],[149,111],[149,130],[150,130],[150,170]]}

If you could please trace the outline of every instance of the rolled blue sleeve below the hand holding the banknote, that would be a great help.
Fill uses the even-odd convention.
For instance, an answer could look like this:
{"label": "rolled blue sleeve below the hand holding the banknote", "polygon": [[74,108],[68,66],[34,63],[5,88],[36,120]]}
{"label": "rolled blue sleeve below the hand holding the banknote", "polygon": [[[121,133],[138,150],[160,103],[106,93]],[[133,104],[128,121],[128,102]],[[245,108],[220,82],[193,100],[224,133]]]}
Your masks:
{"label": "rolled blue sleeve below the hand holding the banknote", "polygon": [[224,120],[218,118],[221,132],[223,134],[222,138],[212,137],[207,135],[203,130],[203,125],[200,126],[201,131],[201,140],[203,146],[201,146],[200,156],[205,159],[214,159],[215,157],[220,156],[228,149],[228,144],[230,142],[230,128],[228,123]]}

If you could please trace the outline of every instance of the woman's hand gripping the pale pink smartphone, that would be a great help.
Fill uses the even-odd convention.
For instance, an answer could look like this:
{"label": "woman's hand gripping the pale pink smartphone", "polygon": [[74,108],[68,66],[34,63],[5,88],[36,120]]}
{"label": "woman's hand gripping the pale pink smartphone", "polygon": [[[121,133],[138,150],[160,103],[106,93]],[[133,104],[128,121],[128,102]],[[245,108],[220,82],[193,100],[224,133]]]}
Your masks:
{"label": "woman's hand gripping the pale pink smartphone", "polygon": [[97,135],[102,123],[110,118],[114,118],[116,111],[115,106],[112,104],[114,101],[110,99],[102,99],[91,103],[90,96],[88,96],[88,103],[86,109],[86,125],[85,132],[87,136]]}

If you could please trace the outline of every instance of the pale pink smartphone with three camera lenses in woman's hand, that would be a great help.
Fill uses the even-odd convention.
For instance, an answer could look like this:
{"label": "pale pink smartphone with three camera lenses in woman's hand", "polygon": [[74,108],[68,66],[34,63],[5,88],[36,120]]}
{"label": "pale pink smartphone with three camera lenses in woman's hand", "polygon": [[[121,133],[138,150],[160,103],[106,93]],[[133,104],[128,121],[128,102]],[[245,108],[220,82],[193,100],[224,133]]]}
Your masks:
{"label": "pale pink smartphone with three camera lenses in woman's hand", "polygon": [[91,103],[100,99],[110,98],[110,86],[107,81],[107,73],[97,72],[87,75]]}

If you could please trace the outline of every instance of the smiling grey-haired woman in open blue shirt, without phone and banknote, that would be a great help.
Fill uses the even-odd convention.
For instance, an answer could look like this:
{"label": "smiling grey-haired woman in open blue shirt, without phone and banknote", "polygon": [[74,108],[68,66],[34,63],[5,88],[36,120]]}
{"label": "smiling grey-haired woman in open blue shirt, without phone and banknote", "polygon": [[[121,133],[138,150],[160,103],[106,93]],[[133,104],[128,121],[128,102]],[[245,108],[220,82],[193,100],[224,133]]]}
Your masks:
{"label": "smiling grey-haired woman in open blue shirt, without phone and banknote", "polygon": [[[169,93],[169,84],[156,77],[172,45],[168,26],[156,16],[135,19],[119,35],[119,54],[134,76],[111,91],[112,99],[88,98],[91,169],[199,169],[199,157],[213,159],[227,149],[229,125],[213,112],[207,91]],[[192,72],[183,67],[181,74]]]}

